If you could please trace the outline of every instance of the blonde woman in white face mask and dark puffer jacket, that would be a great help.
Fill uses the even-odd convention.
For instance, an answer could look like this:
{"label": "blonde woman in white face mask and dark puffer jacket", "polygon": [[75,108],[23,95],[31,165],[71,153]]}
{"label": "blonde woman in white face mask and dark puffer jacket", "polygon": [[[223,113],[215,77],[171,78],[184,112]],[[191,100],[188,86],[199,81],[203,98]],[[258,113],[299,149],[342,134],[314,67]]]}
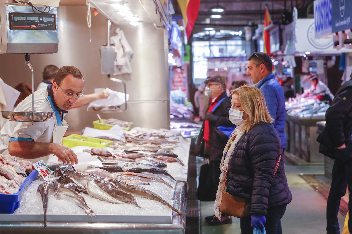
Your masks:
{"label": "blonde woman in white face mask and dark puffer jacket", "polygon": [[[281,157],[281,141],[260,90],[251,85],[231,93],[229,119],[236,125],[225,146],[214,212],[220,213],[221,192],[251,203],[250,216],[240,218],[241,234],[253,227],[281,233],[280,219],[291,201]],[[276,171],[275,171],[276,170]]]}

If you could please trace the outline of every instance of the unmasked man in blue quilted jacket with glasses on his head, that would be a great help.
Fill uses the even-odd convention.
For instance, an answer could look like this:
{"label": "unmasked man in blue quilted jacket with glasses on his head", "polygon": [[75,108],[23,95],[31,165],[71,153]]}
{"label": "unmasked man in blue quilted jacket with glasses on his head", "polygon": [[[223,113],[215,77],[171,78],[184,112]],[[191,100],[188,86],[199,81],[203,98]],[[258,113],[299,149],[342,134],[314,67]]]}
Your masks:
{"label": "unmasked man in blue quilted jacket with glasses on his head", "polygon": [[247,75],[250,76],[252,83],[262,91],[266,107],[271,117],[274,119],[274,125],[281,140],[281,147],[286,148],[286,134],[284,132],[286,122],[285,96],[272,73],[272,61],[266,53],[253,53],[249,56]]}

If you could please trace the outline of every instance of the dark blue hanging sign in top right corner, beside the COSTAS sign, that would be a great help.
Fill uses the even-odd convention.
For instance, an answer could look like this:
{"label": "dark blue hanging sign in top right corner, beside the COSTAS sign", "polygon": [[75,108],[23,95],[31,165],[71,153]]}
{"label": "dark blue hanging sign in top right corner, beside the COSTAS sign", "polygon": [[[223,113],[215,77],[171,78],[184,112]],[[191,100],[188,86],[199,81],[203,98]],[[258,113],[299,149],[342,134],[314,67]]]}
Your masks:
{"label": "dark blue hanging sign in top right corner, beside the COSTAS sign", "polygon": [[336,33],[352,28],[352,0],[332,1],[332,32]]}

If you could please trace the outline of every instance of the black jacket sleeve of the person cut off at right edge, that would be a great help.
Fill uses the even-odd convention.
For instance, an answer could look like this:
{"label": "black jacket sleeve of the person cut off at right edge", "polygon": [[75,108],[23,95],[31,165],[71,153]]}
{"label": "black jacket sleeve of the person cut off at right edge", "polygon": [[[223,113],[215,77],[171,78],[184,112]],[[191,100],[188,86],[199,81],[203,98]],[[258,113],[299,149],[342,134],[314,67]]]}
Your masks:
{"label": "black jacket sleeve of the person cut off at right edge", "polygon": [[338,94],[325,114],[326,129],[331,135],[334,147],[345,143],[344,120],[352,107],[352,89]]}

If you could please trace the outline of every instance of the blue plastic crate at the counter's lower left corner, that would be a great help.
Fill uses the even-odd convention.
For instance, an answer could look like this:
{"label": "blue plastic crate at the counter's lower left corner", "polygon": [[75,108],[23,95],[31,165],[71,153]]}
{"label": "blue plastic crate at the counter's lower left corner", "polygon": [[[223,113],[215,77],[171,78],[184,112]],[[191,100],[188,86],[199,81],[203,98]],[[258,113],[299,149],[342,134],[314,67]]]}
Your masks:
{"label": "blue plastic crate at the counter's lower left corner", "polygon": [[34,169],[29,176],[23,181],[17,193],[4,194],[0,193],[0,213],[1,214],[11,214],[20,205],[20,200],[23,196],[24,191],[37,177],[37,171]]}

